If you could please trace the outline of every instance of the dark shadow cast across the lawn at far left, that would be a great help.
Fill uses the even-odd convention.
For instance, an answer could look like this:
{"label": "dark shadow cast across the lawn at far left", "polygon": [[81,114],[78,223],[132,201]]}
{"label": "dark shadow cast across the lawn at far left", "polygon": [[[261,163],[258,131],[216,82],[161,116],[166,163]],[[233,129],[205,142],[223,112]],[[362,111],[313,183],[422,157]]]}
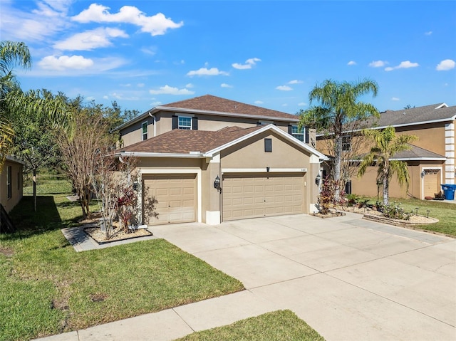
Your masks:
{"label": "dark shadow cast across the lawn at far left", "polygon": [[9,213],[16,232],[3,236],[14,240],[75,226],[81,216],[62,220],[58,208],[78,206],[78,202],[64,201],[56,204],[53,196],[37,196],[37,211],[33,211],[33,196],[23,196],[19,204]]}

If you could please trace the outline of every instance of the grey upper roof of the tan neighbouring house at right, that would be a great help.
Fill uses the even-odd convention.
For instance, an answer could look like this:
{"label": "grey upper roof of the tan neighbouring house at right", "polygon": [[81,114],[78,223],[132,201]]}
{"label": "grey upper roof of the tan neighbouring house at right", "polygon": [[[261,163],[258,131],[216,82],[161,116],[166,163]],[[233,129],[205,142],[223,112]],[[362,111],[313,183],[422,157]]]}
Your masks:
{"label": "grey upper roof of the tan neighbouring house at right", "polygon": [[423,123],[444,122],[455,120],[456,106],[448,107],[445,103],[412,107],[403,110],[386,110],[380,113],[376,128],[403,127]]}

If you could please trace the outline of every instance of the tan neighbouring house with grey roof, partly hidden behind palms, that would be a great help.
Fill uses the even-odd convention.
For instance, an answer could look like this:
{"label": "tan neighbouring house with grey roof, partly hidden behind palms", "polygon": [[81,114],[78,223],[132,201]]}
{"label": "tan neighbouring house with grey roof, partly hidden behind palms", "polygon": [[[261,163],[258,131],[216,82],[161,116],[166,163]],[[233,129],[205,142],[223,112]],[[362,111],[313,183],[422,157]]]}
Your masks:
{"label": "tan neighbouring house with grey roof, partly hidden behind palms", "polygon": [[[408,164],[410,185],[400,187],[393,177],[390,183],[391,197],[416,197],[425,199],[440,192],[440,184],[455,184],[455,123],[456,106],[448,107],[445,103],[413,107],[403,110],[387,110],[380,113],[378,120],[371,120],[371,129],[395,127],[398,135],[415,135],[418,140],[411,142],[410,150],[395,154],[398,159]],[[359,138],[360,132],[345,132],[343,151],[349,151],[351,142]],[[324,154],[325,135],[317,135],[317,149]],[[368,152],[361,150],[360,154]],[[353,162],[356,167],[356,162]],[[369,167],[366,174],[359,178],[355,174],[349,179],[346,189],[353,194],[376,196],[377,168]],[[381,193],[381,192],[380,192]]]}

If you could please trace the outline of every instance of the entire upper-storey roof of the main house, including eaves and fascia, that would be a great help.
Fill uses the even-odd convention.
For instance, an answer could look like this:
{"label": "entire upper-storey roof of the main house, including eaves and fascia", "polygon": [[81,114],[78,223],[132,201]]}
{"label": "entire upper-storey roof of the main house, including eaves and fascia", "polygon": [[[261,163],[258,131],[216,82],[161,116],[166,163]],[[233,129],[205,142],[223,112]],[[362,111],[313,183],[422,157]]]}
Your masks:
{"label": "entire upper-storey roof of the main house, including eaves and fascia", "polygon": [[230,117],[249,117],[259,120],[275,120],[286,122],[299,122],[299,117],[296,115],[287,114],[277,110],[257,107],[246,103],[237,102],[235,100],[227,100],[213,95],[204,95],[189,100],[180,100],[178,102],[158,105],[150,110],[142,113],[138,117],[125,122],[123,125],[115,128],[116,130],[128,127],[135,122],[144,120],[148,115],[155,115],[160,111],[182,112],[182,113],[201,113],[206,115],[230,116]]}

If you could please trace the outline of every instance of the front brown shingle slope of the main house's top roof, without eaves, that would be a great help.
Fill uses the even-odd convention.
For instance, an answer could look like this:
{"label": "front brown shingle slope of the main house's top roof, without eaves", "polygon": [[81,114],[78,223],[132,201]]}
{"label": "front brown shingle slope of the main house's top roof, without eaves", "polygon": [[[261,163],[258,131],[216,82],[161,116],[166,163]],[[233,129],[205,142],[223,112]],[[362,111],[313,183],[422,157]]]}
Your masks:
{"label": "front brown shingle slope of the main house's top roof, without eaves", "polygon": [[160,107],[181,107],[183,109],[268,117],[283,117],[294,120],[297,120],[299,118],[296,115],[287,114],[286,112],[266,109],[264,107],[257,107],[256,105],[249,105],[241,102],[236,102],[235,100],[227,100],[226,98],[219,98],[212,95],[190,98],[190,100],[180,100],[179,102],[160,105]]}

